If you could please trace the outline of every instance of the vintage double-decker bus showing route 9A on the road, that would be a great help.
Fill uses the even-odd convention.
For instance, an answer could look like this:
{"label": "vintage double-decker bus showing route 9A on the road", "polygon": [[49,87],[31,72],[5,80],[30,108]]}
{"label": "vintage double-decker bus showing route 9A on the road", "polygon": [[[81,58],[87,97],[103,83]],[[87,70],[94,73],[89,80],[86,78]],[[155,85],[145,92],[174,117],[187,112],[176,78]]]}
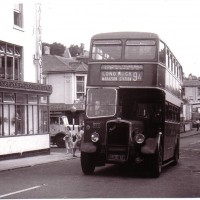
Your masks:
{"label": "vintage double-decker bus showing route 9A on the road", "polygon": [[152,177],[179,158],[182,66],[157,34],[91,39],[81,167],[141,164]]}

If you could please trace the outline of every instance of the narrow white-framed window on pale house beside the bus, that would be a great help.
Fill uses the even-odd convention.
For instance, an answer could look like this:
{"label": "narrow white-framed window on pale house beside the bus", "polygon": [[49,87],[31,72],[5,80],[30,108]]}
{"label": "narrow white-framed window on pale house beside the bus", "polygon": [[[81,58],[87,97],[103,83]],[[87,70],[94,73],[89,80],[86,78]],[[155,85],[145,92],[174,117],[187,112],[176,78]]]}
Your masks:
{"label": "narrow white-framed window on pale house beside the bus", "polygon": [[76,99],[84,100],[85,76],[76,76]]}

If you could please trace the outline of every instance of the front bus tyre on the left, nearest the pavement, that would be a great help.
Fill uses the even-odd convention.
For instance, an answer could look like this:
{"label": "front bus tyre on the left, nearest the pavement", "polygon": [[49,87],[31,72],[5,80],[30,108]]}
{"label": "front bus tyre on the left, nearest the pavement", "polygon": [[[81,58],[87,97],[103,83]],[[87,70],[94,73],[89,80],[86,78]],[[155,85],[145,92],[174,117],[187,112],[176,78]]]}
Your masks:
{"label": "front bus tyre on the left, nearest the pavement", "polygon": [[85,175],[94,173],[95,156],[93,153],[81,152],[81,168]]}

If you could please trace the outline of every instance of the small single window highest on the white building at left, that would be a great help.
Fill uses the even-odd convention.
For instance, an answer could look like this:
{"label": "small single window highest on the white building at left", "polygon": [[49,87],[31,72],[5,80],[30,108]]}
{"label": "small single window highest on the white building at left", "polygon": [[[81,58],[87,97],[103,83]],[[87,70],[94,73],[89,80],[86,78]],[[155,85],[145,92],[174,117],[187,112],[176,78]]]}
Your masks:
{"label": "small single window highest on the white building at left", "polygon": [[14,25],[23,28],[23,4],[14,4]]}

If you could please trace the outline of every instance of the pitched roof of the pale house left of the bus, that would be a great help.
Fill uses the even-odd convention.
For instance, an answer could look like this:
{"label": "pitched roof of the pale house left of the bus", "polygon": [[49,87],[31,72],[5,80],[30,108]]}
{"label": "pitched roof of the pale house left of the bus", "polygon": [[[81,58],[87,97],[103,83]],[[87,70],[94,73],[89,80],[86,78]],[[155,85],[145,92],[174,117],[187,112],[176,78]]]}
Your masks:
{"label": "pitched roof of the pale house left of the bus", "polygon": [[78,62],[72,58],[65,58],[56,55],[42,56],[43,73],[54,72],[85,72],[88,71],[88,66],[85,63]]}

